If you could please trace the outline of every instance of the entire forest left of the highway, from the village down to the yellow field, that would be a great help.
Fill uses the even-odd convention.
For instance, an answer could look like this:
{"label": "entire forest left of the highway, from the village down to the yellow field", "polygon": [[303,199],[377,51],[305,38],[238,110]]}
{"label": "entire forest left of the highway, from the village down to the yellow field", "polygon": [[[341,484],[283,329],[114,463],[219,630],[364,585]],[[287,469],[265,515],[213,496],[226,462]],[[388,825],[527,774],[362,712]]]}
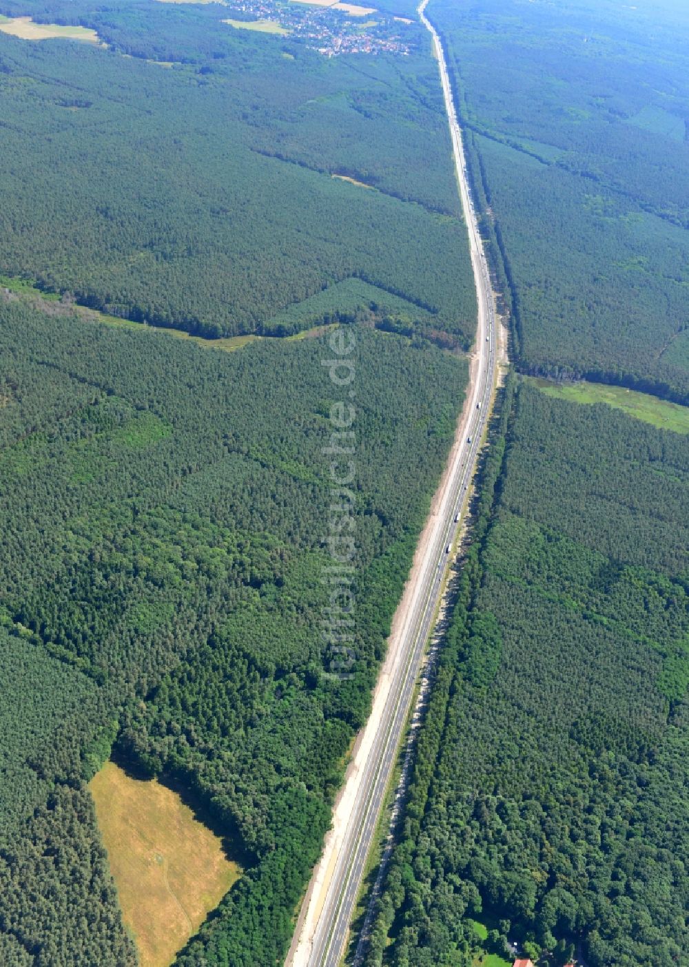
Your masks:
{"label": "entire forest left of the highway, from the village down to the yellow field", "polygon": [[[475,316],[434,64],[414,41],[362,70],[216,5],[0,15],[107,45],[0,34],[0,961],[135,963],[86,789],[112,755],[244,869],[179,962],[272,964],[464,395],[432,345],[468,346]],[[228,354],[117,317],[366,323],[346,681],[319,624],[327,337]]]}

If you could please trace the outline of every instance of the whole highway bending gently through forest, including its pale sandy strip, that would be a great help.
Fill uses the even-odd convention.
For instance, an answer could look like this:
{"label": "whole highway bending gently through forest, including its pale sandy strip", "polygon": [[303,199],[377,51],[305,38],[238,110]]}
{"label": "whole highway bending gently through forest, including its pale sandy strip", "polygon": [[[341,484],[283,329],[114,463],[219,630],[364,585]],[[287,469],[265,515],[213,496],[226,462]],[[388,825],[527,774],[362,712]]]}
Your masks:
{"label": "whole highway bending gently through forest, including its pale sandy strip", "polygon": [[[326,840],[323,857],[303,903],[286,967],[338,967],[344,955],[366,859],[404,737],[426,644],[442,595],[451,559],[449,548],[461,527],[466,491],[489,419],[500,362],[494,294],[466,180],[462,132],[452,100],[444,51],[425,14],[428,2],[423,0],[418,14],[433,37],[476,283],[478,321],[471,378],[460,424],[461,435],[450,454],[443,482],[435,495],[434,511],[424,531],[425,553],[419,566],[412,571],[398,610],[398,616],[402,613],[402,617],[397,632],[393,631],[393,634],[397,633],[399,640],[394,654],[389,654],[381,669],[380,678],[385,678],[385,688],[376,689],[374,710],[359,737],[355,759],[347,771],[339,800],[340,805],[344,804],[339,810],[343,813],[340,828]],[[336,805],[336,813],[338,808]]]}

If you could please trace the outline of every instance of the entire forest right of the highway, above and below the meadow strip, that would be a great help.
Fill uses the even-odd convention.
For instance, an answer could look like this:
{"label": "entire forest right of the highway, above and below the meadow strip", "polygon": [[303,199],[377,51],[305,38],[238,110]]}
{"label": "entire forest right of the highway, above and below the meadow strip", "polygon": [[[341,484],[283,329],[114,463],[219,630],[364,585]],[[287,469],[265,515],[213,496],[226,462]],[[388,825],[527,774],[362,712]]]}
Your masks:
{"label": "entire forest right of the highway, above and below the meadow strip", "polygon": [[[516,368],[686,404],[684,5],[434,17]],[[689,964],[689,438],[511,381],[489,443],[367,965]]]}

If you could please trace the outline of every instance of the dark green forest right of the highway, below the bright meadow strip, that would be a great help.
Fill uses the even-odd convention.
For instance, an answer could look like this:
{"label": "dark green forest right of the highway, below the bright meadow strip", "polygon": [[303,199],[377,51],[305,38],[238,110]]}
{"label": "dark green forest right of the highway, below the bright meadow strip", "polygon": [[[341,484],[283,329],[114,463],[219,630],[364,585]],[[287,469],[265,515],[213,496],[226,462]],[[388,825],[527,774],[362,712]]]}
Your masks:
{"label": "dark green forest right of the highway, below the bright meadow strip", "polygon": [[498,955],[687,964],[689,437],[526,385],[512,409],[368,962],[470,967],[478,921]]}

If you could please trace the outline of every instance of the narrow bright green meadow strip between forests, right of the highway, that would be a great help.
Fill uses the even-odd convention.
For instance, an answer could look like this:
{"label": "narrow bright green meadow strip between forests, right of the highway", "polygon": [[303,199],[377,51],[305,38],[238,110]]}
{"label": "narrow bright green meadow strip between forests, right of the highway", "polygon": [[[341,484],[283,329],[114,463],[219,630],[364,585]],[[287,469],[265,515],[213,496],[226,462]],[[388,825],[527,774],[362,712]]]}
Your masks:
{"label": "narrow bright green meadow strip between forests, right of the highway", "polygon": [[568,399],[574,403],[607,403],[615,409],[623,410],[636,420],[643,420],[660,429],[671,429],[675,433],[689,433],[689,406],[680,406],[657,396],[625,390],[623,386],[606,386],[603,383],[564,383],[555,384],[545,379],[524,377],[528,382],[545,393],[558,399]]}

